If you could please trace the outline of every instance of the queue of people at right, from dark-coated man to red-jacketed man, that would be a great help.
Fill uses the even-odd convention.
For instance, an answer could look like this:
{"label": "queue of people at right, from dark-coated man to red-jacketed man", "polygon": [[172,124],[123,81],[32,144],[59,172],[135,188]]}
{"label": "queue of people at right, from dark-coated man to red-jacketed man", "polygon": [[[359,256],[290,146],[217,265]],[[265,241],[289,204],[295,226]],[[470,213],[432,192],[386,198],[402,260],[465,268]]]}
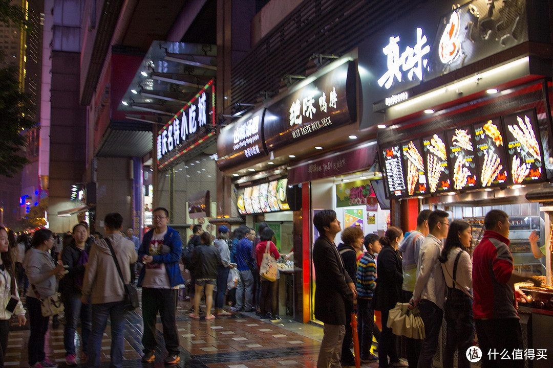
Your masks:
{"label": "queue of people at right, from dark-coated man to red-jacketed man", "polygon": [[[524,366],[523,360],[493,360],[487,354],[493,349],[523,349],[514,284],[531,281],[540,285],[539,278],[514,271],[509,216],[500,210],[488,212],[483,237],[474,249],[471,225],[463,220],[450,222],[448,217],[445,211],[424,210],[415,230],[404,236],[392,226],[379,238],[375,234],[363,237],[357,227],[342,231],[333,210],[314,216],[320,234],[312,250],[315,317],[324,323],[318,368],[355,364],[349,327],[354,308],[361,362],[378,360],[379,368],[431,368],[445,317],[445,368],[453,368],[455,353],[457,367],[471,366],[466,352],[474,345],[475,332],[483,368]],[[336,246],[339,232],[342,243]],[[535,233],[529,240],[536,248]],[[418,308],[424,339],[399,338],[388,327],[390,310],[397,303],[408,303],[409,310]],[[375,310],[380,311],[382,332],[375,328]],[[371,352],[373,336],[376,344]],[[401,345],[406,360],[400,359]]]}

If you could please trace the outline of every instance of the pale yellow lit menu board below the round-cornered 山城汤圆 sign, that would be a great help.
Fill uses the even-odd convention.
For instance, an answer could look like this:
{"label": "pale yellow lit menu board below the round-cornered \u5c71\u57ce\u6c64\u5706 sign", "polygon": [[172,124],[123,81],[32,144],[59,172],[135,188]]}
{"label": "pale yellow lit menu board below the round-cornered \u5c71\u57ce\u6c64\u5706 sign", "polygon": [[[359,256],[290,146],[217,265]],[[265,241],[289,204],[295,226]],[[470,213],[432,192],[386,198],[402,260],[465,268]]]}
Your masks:
{"label": "pale yellow lit menu board below the round-cornered \u5c71\u57ce\u6c64\u5706 sign", "polygon": [[290,206],[286,200],[287,184],[288,179],[280,179],[240,189],[237,200],[238,212],[248,215],[289,210]]}

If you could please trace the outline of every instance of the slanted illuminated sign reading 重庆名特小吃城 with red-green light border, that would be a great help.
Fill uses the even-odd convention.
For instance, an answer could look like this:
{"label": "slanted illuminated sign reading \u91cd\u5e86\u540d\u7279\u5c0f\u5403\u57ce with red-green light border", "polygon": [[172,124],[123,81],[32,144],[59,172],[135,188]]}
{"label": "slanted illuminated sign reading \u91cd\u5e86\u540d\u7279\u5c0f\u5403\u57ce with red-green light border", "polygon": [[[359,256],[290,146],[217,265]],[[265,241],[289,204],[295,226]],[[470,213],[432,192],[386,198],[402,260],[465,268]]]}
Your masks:
{"label": "slanted illuminated sign reading \u91cd\u5e86\u540d\u7279\u5c0f\u5403\u57ce with red-green light border", "polygon": [[156,139],[160,167],[181,156],[190,148],[193,137],[204,137],[215,127],[215,84],[210,81],[190,100],[163,129]]}

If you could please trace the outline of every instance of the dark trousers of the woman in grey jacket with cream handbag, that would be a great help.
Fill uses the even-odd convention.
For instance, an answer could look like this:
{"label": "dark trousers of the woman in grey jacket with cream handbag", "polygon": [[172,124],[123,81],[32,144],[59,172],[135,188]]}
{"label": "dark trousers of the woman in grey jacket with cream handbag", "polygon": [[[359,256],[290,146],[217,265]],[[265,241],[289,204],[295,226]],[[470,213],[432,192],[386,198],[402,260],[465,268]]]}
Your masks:
{"label": "dark trousers of the woman in grey jacket with cream handbag", "polygon": [[46,358],[44,354],[44,335],[48,331],[48,321],[50,317],[43,317],[40,309],[40,300],[33,297],[27,297],[27,310],[31,333],[29,335],[28,356],[29,365]]}

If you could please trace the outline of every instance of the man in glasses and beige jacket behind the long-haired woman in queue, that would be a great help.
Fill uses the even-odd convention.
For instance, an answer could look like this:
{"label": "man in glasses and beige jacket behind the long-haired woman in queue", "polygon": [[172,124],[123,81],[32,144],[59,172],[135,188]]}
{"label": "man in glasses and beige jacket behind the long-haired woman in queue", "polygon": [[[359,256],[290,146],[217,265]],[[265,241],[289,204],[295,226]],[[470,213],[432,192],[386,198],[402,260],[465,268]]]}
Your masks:
{"label": "man in glasses and beige jacket behind the long-haired woman in queue", "polygon": [[425,339],[419,355],[418,368],[431,368],[432,359],[438,346],[444,302],[446,298],[446,283],[442,266],[438,257],[442,252],[442,239],[447,237],[449,230],[448,213],[441,210],[433,211],[428,216],[430,232],[419,251],[417,262],[415,291],[409,301],[410,308],[418,305],[420,316],[424,322]]}

